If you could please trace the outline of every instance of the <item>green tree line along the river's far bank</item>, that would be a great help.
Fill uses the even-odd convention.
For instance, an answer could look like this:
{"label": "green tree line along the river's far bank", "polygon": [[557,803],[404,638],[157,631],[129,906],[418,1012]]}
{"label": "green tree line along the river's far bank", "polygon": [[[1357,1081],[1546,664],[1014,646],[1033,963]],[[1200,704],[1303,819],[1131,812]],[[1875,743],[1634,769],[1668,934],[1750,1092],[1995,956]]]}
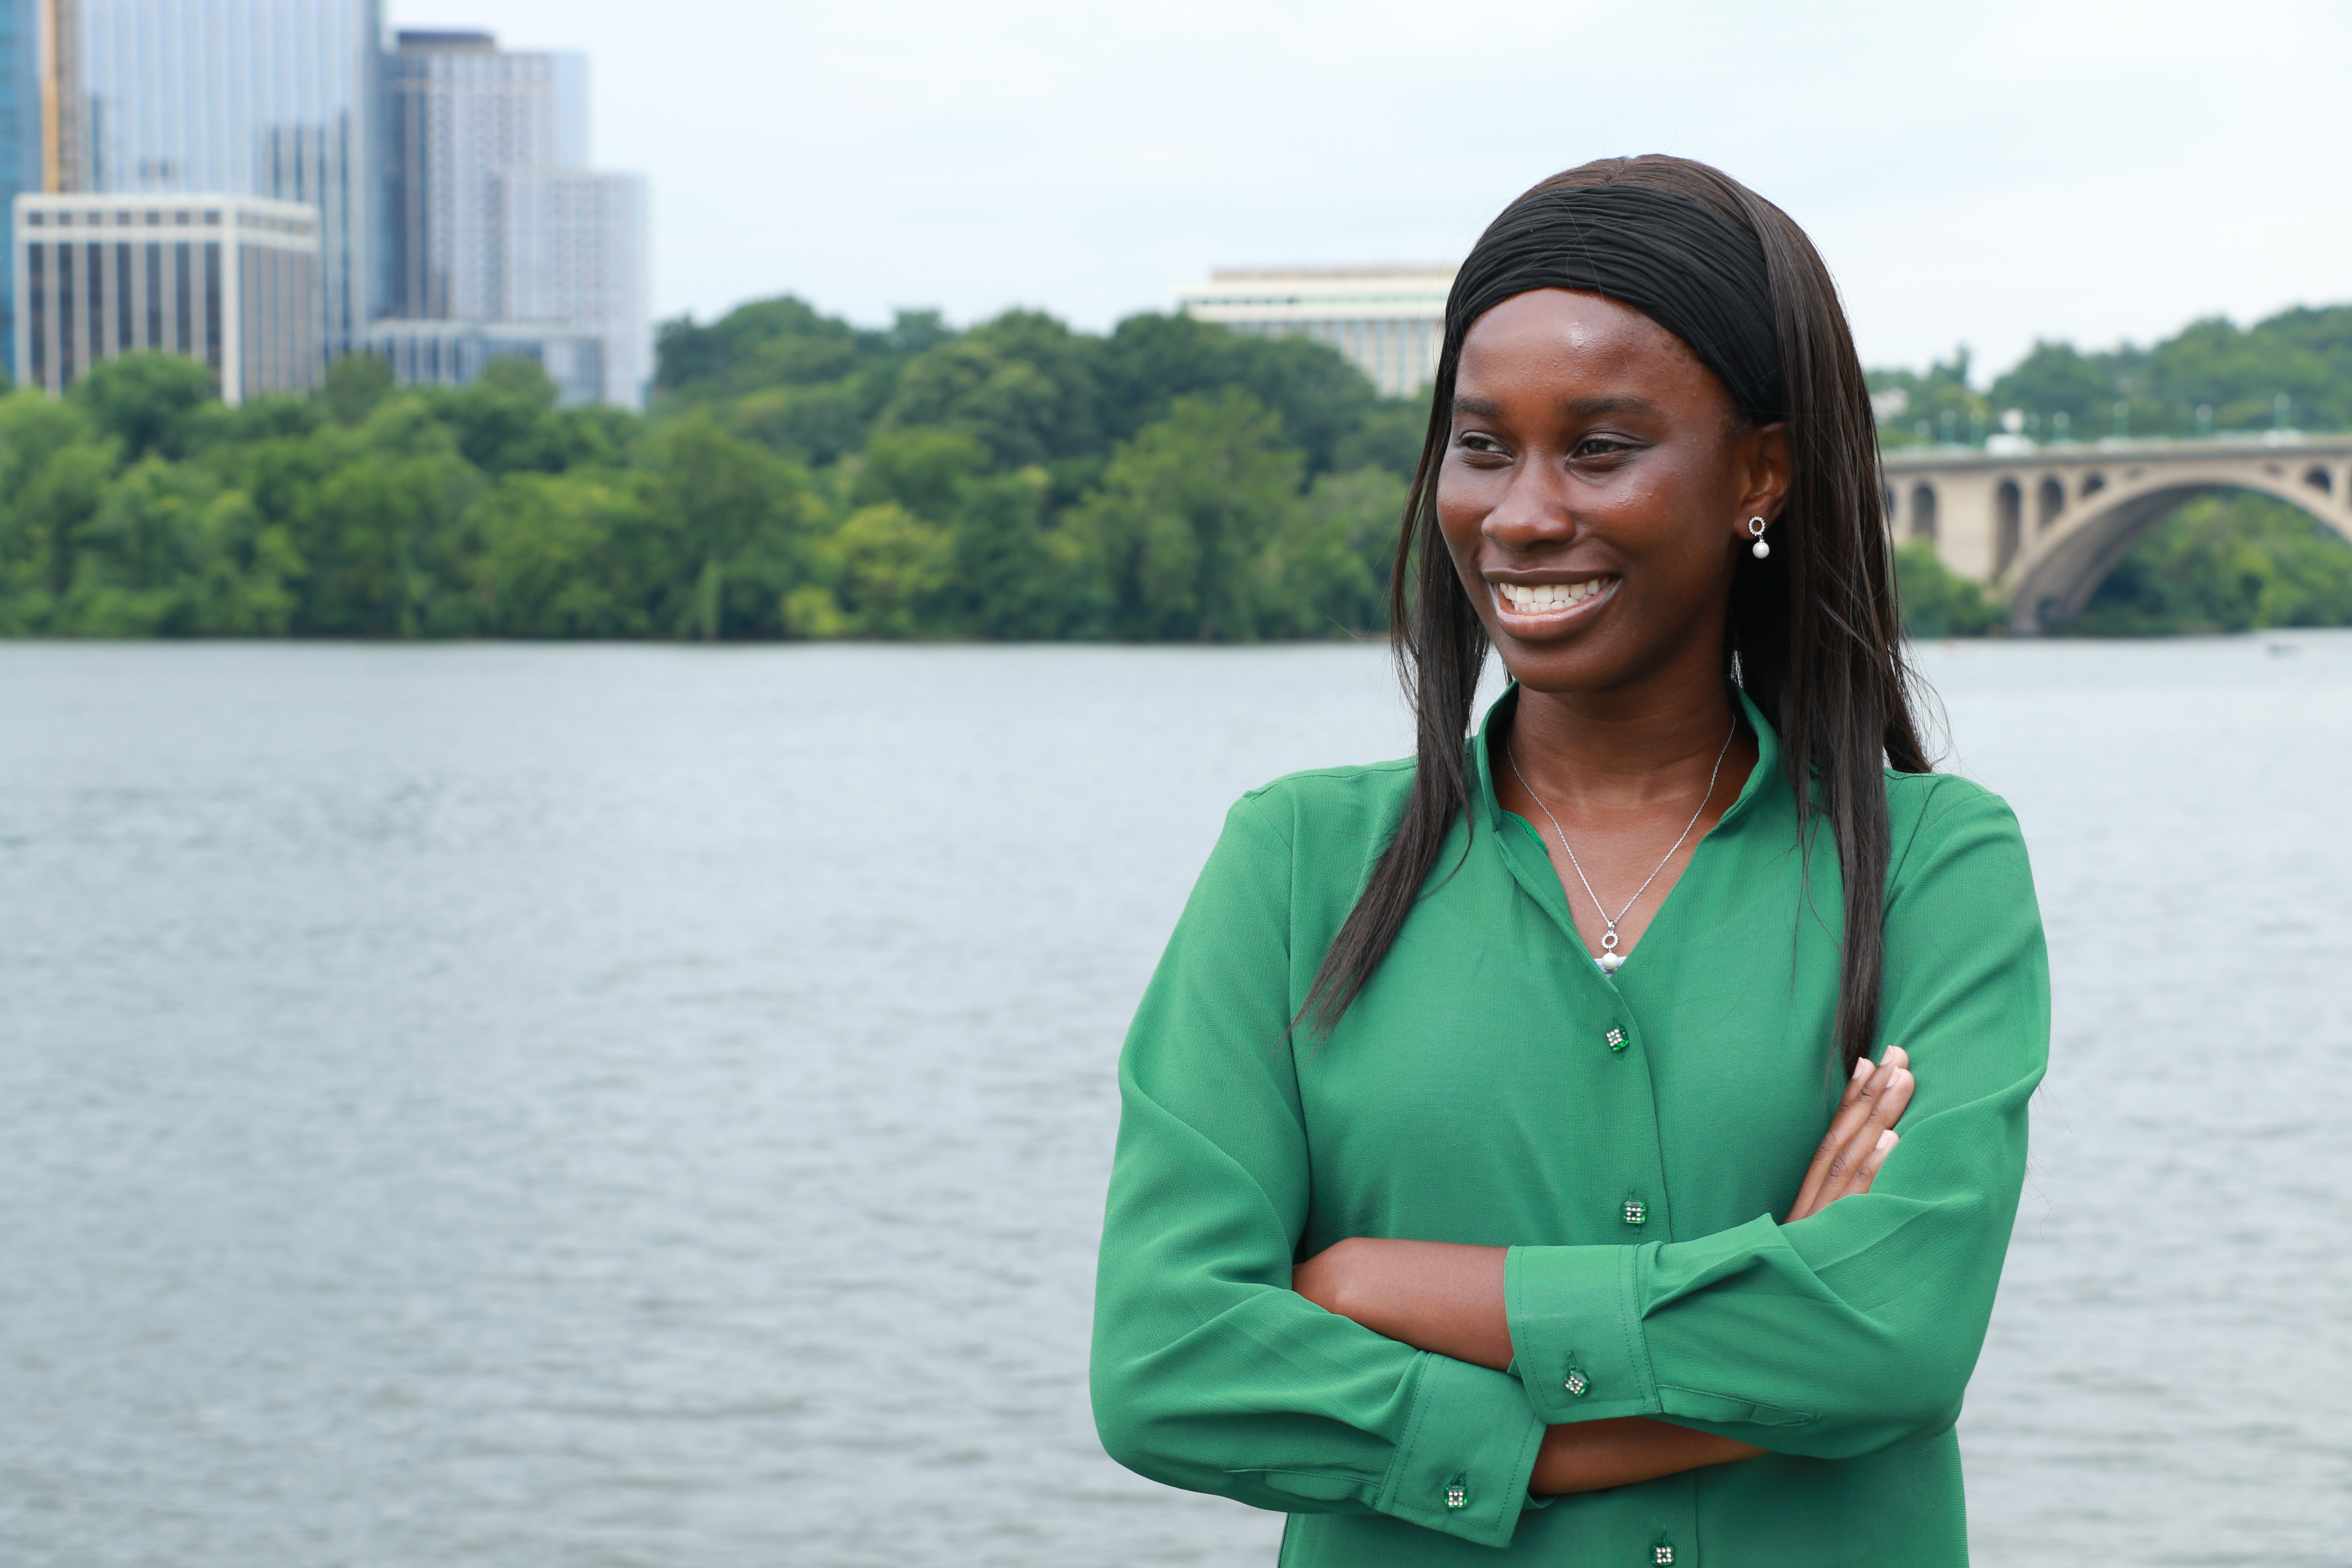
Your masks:
{"label": "green tree line along the river's far bank", "polygon": [[[2009,409],[2044,437],[2103,407],[2352,428],[2352,308],[1872,390],[1889,444]],[[769,299],[663,324],[642,416],[557,407],[520,357],[395,388],[353,355],[228,409],[202,367],[127,355],[0,397],[0,635],[1378,635],[1423,421],[1331,348],[1183,315],[870,329]],[[1919,635],[1999,623],[1931,555],[1903,592]],[[2239,496],[2143,538],[2079,630],[2347,623],[2352,548]]]}

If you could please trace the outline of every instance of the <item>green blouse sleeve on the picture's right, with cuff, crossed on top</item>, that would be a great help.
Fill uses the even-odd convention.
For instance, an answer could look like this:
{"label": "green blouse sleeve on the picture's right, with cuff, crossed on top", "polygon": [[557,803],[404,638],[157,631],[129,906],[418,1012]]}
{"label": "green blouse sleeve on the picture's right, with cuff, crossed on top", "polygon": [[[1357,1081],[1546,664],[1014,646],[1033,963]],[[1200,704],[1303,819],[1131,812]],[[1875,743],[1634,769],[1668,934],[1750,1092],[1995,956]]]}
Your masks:
{"label": "green blouse sleeve on the picture's right, with cuff, crossed on top", "polygon": [[1959,1415],[2025,1175],[2049,959],[1999,797],[1938,778],[1898,851],[1879,1039],[1919,1077],[1903,1143],[1870,1192],[1795,1225],[1512,1248],[1515,1371],[1545,1422],[1665,1415],[1846,1458]]}

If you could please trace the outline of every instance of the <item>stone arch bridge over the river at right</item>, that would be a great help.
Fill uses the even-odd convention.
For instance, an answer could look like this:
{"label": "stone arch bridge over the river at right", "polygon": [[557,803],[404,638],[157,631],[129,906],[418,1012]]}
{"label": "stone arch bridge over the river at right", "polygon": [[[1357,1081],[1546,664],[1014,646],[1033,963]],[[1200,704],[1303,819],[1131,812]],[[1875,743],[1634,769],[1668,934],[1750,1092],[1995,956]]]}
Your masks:
{"label": "stone arch bridge over the river at right", "polygon": [[[1994,437],[1999,442],[2002,437]],[[2009,628],[2082,614],[2150,524],[2185,501],[2251,489],[2352,538],[2352,437],[2098,442],[1889,451],[1886,524],[2009,604]]]}

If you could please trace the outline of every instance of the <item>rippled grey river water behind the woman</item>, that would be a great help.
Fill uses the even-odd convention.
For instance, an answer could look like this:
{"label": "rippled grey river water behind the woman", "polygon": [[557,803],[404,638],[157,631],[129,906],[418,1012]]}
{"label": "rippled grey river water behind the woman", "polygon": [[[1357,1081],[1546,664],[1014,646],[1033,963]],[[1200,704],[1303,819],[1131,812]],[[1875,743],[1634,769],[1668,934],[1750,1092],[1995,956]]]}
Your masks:
{"label": "rippled grey river water behind the woman", "polygon": [[[1926,649],[2056,1067],[1978,1561],[2352,1561],[2352,637]],[[0,1563],[1270,1563],[1084,1401],[1112,1056],[1374,649],[0,646]]]}

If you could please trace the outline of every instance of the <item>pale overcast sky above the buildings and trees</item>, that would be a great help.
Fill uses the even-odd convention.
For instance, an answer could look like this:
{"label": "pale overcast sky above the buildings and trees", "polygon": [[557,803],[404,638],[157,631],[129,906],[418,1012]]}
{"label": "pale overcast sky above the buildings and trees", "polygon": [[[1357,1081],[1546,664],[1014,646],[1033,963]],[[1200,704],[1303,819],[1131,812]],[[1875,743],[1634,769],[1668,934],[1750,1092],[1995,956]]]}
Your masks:
{"label": "pale overcast sky above the buildings and trees", "polygon": [[590,61],[654,313],[1164,310],[1211,266],[1456,261],[1682,153],[1820,244],[1870,364],[2352,301],[2352,5],[390,0]]}

